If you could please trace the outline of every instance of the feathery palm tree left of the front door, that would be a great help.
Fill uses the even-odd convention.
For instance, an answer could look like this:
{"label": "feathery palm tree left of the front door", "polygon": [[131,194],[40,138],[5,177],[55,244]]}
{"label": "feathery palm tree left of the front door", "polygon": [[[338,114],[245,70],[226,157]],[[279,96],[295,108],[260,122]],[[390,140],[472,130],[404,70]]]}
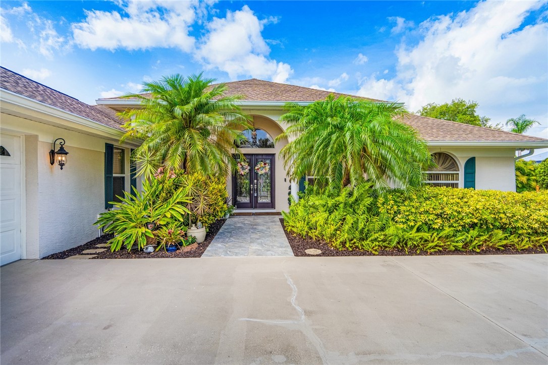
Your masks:
{"label": "feathery palm tree left of the front door", "polygon": [[206,176],[226,173],[235,166],[232,153],[250,128],[248,115],[235,102],[242,96],[223,96],[225,84],[215,79],[180,74],[145,83],[142,92],[125,97],[141,101],[141,109],[118,113],[127,120],[121,141],[143,140],[133,158],[139,175],[150,177],[163,166]]}

